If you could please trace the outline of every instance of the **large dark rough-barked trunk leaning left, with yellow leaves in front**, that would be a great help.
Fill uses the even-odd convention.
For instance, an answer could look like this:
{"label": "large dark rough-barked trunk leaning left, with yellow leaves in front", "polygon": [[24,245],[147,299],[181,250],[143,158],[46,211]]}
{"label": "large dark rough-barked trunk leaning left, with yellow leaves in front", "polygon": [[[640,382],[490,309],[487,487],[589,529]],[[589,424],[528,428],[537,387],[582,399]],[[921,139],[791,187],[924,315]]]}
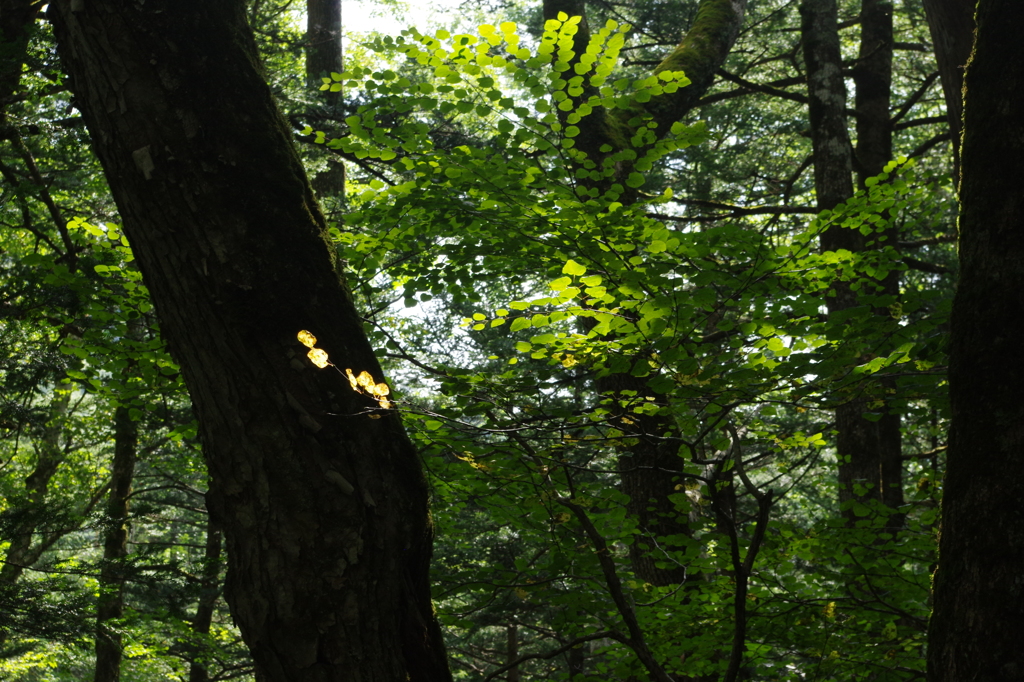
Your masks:
{"label": "large dark rough-barked trunk leaning left, with yellow leaves in front", "polygon": [[[242,0],[57,0],[58,49],[180,363],[257,680],[449,680],[427,485]],[[378,418],[378,419],[375,419]]]}

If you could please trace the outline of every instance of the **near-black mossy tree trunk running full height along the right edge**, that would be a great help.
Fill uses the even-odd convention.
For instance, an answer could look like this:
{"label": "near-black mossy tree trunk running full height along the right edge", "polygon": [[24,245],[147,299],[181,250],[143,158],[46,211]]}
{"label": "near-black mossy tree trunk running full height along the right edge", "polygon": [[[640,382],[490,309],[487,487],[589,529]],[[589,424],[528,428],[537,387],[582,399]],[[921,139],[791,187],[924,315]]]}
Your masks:
{"label": "near-black mossy tree trunk running full height along the right edge", "polygon": [[981,0],[977,19],[964,87],[931,682],[1024,679],[1024,3]]}

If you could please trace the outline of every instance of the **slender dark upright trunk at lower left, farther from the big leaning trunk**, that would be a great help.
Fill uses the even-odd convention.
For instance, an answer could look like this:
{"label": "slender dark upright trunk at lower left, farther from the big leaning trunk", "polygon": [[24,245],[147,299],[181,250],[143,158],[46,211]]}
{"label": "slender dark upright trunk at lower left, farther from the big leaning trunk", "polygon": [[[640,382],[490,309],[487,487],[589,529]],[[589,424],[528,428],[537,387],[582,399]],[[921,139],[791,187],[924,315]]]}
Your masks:
{"label": "slender dark upright trunk at lower left, farther from the big leaning trunk", "polygon": [[138,425],[129,415],[128,408],[119,407],[114,415],[114,463],[106,499],[103,562],[99,570],[99,598],[96,602],[95,682],[118,682],[121,679],[120,626],[110,622],[124,615],[128,500],[135,474],[137,447]]}

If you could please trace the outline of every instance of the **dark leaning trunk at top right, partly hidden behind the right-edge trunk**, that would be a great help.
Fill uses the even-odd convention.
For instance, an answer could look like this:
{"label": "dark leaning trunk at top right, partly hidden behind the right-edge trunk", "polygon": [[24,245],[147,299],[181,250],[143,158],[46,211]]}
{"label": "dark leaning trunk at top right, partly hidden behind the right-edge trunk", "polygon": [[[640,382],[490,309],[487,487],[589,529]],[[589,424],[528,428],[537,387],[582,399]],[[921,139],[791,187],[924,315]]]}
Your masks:
{"label": "dark leaning trunk at top right, partly hidden behind the right-edge trunk", "polygon": [[964,116],[964,67],[974,44],[975,0],[924,0],[928,28],[939,65],[946,118],[953,141],[953,186],[959,184],[961,120]]}

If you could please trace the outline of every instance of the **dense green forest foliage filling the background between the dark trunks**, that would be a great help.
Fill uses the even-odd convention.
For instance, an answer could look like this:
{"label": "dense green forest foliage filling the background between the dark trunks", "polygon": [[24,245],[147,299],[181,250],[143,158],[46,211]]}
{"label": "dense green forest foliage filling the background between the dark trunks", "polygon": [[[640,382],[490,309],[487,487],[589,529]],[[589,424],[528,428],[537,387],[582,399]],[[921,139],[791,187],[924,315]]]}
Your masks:
{"label": "dense green forest foliage filling the background between the dark trunks", "polygon": [[[954,210],[931,56],[896,63],[897,127],[916,117],[899,158],[818,213],[790,3],[752,7],[706,103],[649,125],[643,104],[689,83],[649,67],[695,5],[595,6],[579,54],[579,17],[532,7],[508,9],[523,28],[370,36],[324,86],[334,109],[303,89],[287,5],[254,5],[310,168],[347,165],[324,199],[431,477],[457,679],[723,679],[733,656],[742,679],[924,675]],[[896,24],[924,43],[914,3]],[[245,677],[222,602],[198,627],[222,576],[187,396],[49,40],[0,142],[0,603],[20,602],[0,609],[0,677],[91,675],[118,408],[139,430],[127,610],[106,626],[123,679]],[[598,112],[622,122],[599,158],[578,144]],[[867,250],[820,252],[835,225]],[[858,305],[825,315],[838,282]],[[902,416],[907,504],[854,502],[851,524],[833,410],[855,399]],[[671,535],[628,509],[641,442],[675,462]],[[685,579],[645,581],[631,550]]]}

